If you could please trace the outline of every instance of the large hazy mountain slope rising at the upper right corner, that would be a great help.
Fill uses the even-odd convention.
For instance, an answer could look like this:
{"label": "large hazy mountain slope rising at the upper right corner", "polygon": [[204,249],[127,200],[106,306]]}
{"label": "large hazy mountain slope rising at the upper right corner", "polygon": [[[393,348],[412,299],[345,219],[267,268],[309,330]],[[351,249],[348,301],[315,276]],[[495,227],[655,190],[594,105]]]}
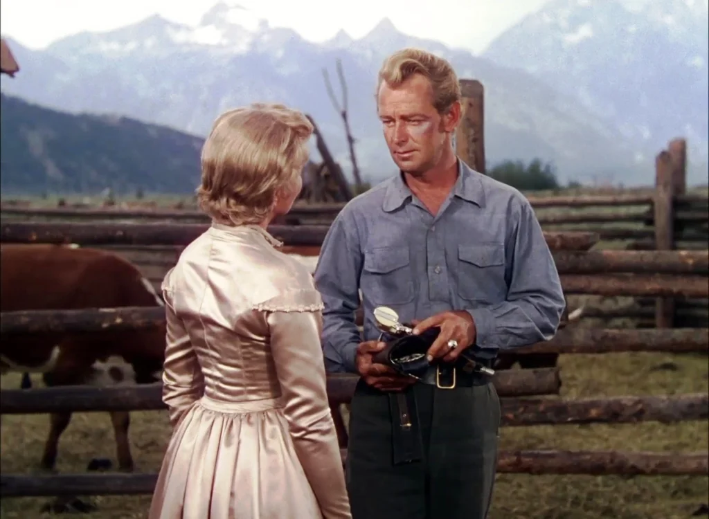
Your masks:
{"label": "large hazy mountain slope rising at the upper right corner", "polygon": [[[484,57],[580,99],[654,150],[688,139],[709,155],[707,0],[553,0],[493,40]],[[705,179],[704,179],[705,182]]]}

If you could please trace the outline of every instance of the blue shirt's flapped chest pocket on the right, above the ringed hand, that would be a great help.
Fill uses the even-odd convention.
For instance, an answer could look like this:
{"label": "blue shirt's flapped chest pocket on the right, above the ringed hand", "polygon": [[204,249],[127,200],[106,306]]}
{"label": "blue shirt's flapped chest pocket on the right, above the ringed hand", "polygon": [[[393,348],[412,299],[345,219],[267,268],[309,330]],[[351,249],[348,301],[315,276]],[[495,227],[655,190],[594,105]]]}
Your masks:
{"label": "blue shirt's flapped chest pocket on the right, above the ringed hand", "polygon": [[457,263],[459,296],[484,303],[505,301],[508,286],[503,244],[459,245]]}

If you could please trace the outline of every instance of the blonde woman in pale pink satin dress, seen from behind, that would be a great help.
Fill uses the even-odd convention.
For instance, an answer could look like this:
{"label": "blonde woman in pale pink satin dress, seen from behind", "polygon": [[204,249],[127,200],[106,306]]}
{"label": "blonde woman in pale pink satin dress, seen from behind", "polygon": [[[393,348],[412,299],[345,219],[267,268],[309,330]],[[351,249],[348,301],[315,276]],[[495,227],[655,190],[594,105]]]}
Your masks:
{"label": "blonde woman in pale pink satin dress, seen from behind", "polygon": [[301,190],[312,131],[298,111],[254,104],[204,143],[197,194],[212,225],[162,284],[174,432],[150,519],[351,517],[320,295],[266,230]]}

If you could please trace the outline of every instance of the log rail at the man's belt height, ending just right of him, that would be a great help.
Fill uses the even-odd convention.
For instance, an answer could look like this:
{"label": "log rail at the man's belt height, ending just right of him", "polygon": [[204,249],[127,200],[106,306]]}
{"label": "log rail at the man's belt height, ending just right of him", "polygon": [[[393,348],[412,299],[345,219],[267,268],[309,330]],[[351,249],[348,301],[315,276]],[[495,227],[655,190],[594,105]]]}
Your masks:
{"label": "log rail at the man's belt height, ending just right of him", "polygon": [[[331,405],[350,403],[359,376],[327,377]],[[492,377],[501,398],[557,395],[561,389],[559,368],[508,369]],[[104,411],[157,411],[164,409],[162,384],[93,388],[63,386],[0,391],[0,414],[91,413]]]}

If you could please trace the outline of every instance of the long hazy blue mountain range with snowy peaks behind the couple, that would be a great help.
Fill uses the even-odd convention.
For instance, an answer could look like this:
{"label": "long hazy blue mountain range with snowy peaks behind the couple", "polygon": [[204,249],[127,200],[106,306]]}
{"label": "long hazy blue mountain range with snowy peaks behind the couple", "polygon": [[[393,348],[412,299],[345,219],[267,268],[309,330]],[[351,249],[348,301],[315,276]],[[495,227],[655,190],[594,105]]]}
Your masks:
{"label": "long hazy blue mountain range with snowy peaks behind the couple", "polygon": [[[654,179],[652,155],[659,147],[629,144],[613,119],[598,116],[593,104],[584,106],[576,91],[560,92],[534,70],[504,67],[405,35],[387,19],[358,40],[340,31],[316,44],[293,30],[272,28],[238,5],[220,3],[194,26],[152,16],[106,33],[63,38],[41,51],[12,40],[10,45],[22,71],[14,79],[2,78],[8,94],[66,111],[121,113],[196,135],[206,135],[226,108],[281,101],[315,118],[347,169],[342,121],[323,81],[326,68],[339,95],[339,58],[358,162],[370,179],[394,169],[376,118],[376,71],[389,52],[416,46],[447,57],[459,77],[484,84],[489,163],[540,157],[557,165],[562,181],[601,177],[648,184]],[[672,136],[684,133],[668,128]]]}

